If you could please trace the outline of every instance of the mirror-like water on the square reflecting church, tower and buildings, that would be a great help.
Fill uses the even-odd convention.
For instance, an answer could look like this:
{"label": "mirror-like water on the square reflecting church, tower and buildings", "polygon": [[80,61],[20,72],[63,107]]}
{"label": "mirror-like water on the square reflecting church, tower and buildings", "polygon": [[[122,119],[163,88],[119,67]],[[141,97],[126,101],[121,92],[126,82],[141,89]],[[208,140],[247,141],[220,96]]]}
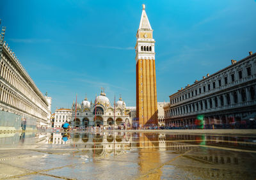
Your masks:
{"label": "mirror-like water on the square reflecting church, tower and buildings", "polygon": [[2,149],[42,148],[51,152],[74,149],[70,153],[74,160],[93,163],[97,160],[102,165],[110,163],[103,160],[116,158],[121,163],[136,163],[138,176],[149,179],[172,179],[170,172],[174,170],[205,179],[254,177],[250,172],[256,169],[255,140],[255,137],[171,133],[0,133]]}

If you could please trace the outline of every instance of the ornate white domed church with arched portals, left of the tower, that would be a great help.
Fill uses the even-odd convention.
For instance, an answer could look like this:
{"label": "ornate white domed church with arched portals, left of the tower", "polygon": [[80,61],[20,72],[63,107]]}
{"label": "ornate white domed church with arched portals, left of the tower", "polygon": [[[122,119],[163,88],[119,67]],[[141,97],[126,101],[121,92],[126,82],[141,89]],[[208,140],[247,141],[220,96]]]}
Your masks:
{"label": "ornate white domed church with arched portals, left of the tower", "polygon": [[101,90],[94,103],[84,98],[82,103],[72,104],[72,128],[87,128],[92,126],[112,126],[124,125],[131,126],[132,117],[129,116],[129,110],[125,109],[125,102],[120,97],[113,106]]}

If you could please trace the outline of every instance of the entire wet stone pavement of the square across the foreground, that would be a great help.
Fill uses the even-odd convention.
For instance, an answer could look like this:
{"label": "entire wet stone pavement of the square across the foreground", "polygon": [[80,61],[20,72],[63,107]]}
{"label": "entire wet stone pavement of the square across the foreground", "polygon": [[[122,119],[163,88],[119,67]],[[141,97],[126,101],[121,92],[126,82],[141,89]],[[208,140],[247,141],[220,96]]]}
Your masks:
{"label": "entire wet stone pavement of the square across the foreground", "polygon": [[255,179],[256,135],[0,133],[1,179]]}

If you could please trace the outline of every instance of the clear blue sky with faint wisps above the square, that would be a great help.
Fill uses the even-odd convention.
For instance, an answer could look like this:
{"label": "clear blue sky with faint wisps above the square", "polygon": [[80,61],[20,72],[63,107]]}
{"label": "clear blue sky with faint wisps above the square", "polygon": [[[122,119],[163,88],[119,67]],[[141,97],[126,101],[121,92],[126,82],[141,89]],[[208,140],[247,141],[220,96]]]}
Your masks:
{"label": "clear blue sky with faint wisps above the square", "polygon": [[256,51],[255,0],[0,0],[5,40],[42,93],[70,107],[100,87],[136,105],[134,46],[146,4],[156,40],[157,101]]}

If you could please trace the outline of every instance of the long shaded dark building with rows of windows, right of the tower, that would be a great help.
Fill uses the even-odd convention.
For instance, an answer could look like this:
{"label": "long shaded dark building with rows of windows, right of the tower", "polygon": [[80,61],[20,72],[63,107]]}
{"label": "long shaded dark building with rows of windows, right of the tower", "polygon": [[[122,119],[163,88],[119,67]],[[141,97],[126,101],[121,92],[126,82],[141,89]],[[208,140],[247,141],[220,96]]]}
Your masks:
{"label": "long shaded dark building with rows of windows, right of the tower", "polygon": [[[204,115],[205,126],[234,124],[256,111],[256,54],[232,64],[170,95],[164,107],[165,123],[173,126],[195,124]],[[256,114],[254,115],[256,116]]]}

